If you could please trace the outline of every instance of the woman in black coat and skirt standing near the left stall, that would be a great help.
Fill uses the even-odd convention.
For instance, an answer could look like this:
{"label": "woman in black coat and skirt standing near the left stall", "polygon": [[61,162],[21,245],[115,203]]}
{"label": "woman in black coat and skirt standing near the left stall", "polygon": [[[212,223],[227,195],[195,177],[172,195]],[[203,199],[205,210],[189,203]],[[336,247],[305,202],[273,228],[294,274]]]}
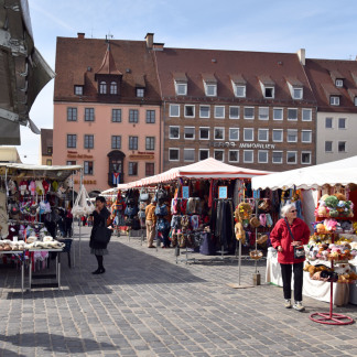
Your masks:
{"label": "woman in black coat and skirt standing near the left stall", "polygon": [[102,274],[106,269],[102,266],[102,256],[108,255],[107,244],[95,241],[94,237],[99,225],[107,227],[107,219],[110,213],[106,207],[106,198],[98,196],[96,198],[96,209],[93,213],[93,228],[90,234],[89,247],[90,253],[95,255],[98,261],[98,269],[93,272],[93,274]]}

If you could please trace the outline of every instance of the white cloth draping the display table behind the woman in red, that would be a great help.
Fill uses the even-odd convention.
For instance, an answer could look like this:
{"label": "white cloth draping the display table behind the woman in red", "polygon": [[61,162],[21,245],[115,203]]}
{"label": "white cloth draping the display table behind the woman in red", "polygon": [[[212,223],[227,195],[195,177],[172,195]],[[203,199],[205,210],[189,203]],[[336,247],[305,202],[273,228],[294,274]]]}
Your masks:
{"label": "white cloth draping the display table behind the woman in red", "polygon": [[[292,277],[291,286],[293,290],[293,281],[294,275]],[[280,264],[278,262],[278,255],[274,249],[269,248],[267,256],[267,271],[266,271],[266,281],[268,283],[275,284],[278,286],[282,286],[282,278]],[[333,303],[337,306],[345,305],[348,302],[354,303],[350,300],[349,294],[349,285],[347,283],[333,283]],[[310,273],[304,271],[304,282],[303,282],[303,295],[310,296],[320,301],[329,302],[329,288],[331,282],[312,280],[310,278]],[[356,288],[356,285],[354,286]],[[357,289],[356,289],[357,293]],[[357,295],[353,296],[353,299],[357,299]],[[355,301],[355,300],[354,300]]]}

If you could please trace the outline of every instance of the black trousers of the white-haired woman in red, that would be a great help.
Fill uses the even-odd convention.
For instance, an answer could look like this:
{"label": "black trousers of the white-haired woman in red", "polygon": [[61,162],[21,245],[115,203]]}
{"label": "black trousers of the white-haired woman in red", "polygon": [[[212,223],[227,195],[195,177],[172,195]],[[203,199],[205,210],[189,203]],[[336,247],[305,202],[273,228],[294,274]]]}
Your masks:
{"label": "black trousers of the white-haired woman in red", "polygon": [[294,301],[302,301],[303,262],[294,264],[280,264],[283,281],[284,299],[291,299],[291,275],[294,272]]}

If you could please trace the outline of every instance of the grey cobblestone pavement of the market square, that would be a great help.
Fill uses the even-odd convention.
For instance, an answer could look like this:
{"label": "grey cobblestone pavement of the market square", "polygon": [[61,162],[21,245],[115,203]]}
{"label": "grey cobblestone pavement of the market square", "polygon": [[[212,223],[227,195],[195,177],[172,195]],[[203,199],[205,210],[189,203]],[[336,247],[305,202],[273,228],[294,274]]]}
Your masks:
{"label": "grey cobblestone pavement of the market square", "polygon": [[[1,356],[357,356],[356,325],[312,322],[311,313],[329,311],[313,299],[304,299],[304,313],[284,309],[282,289],[263,281],[264,261],[261,285],[232,289],[237,260],[176,264],[173,249],[121,236],[110,242],[106,273],[93,275],[89,228],[82,228],[80,259],[77,230],[75,267],[62,255],[60,291],[22,294],[20,271],[1,267]],[[240,284],[255,272],[242,260]],[[357,320],[355,305],[334,313]]]}

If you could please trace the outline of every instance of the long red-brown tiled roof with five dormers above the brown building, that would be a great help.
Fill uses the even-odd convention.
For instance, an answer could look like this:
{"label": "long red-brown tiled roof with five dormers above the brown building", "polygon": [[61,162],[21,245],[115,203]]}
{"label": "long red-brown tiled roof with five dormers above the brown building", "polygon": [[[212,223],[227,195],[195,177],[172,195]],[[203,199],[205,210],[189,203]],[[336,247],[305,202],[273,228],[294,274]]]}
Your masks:
{"label": "long red-brown tiled roof with five dormers above the brown building", "polygon": [[[217,80],[217,100],[235,99],[231,78],[235,74],[246,80],[247,98],[237,99],[245,102],[291,104],[292,97],[286,84],[288,77],[294,77],[303,86],[304,105],[315,105],[306,75],[296,54],[169,48],[155,52],[162,96],[165,100],[176,98],[173,86],[173,72],[185,72],[187,77],[187,96],[183,100],[203,100],[206,98],[203,76],[209,74]],[[259,78],[270,77],[274,83],[274,99],[264,99]],[[178,98],[178,97],[177,97]],[[212,100],[212,99],[207,99]]]}

